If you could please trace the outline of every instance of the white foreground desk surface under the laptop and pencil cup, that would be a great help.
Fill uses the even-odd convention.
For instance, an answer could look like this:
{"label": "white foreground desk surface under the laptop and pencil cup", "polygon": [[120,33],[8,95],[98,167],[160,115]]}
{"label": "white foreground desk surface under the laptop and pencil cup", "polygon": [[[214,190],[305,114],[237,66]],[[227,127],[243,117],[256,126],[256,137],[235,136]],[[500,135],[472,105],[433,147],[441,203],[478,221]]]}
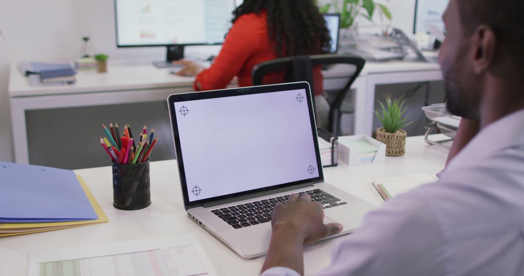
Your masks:
{"label": "white foreground desk surface under the laptop and pencil cup", "polygon": [[[406,155],[386,157],[385,163],[324,168],[325,180],[373,204],[383,200],[372,186],[375,178],[414,173],[436,174],[448,152],[426,144],[422,136],[408,137]],[[151,205],[143,210],[113,208],[111,167],[76,170],[100,203],[110,222],[0,239],[0,274],[27,275],[29,253],[110,241],[195,233],[219,275],[258,275],[264,257],[242,259],[187,217],[180,193],[176,160],[151,163]],[[311,275],[330,263],[331,248],[344,237],[328,239],[304,249],[305,272]]]}

